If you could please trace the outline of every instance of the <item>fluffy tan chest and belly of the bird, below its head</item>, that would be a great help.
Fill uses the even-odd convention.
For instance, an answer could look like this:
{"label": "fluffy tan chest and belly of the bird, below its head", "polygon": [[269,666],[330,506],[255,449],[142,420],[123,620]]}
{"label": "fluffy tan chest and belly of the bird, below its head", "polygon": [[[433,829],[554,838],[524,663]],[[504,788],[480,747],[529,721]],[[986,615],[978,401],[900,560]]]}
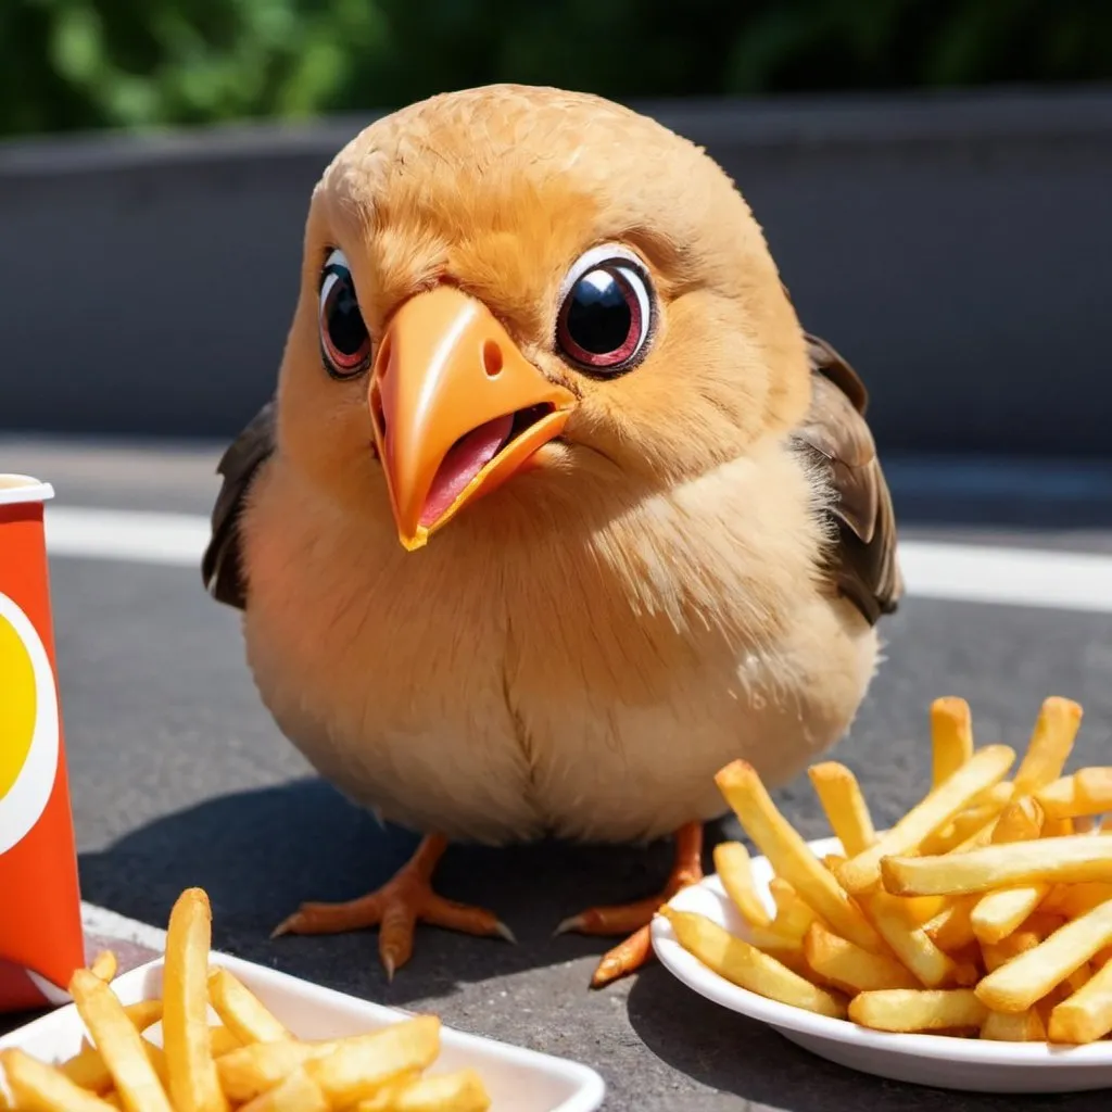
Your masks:
{"label": "fluffy tan chest and belly of the bird, below its head", "polygon": [[821,587],[798,458],[770,444],[627,500],[596,464],[522,476],[410,554],[385,498],[351,514],[269,461],[248,656],[325,776],[450,837],[635,840],[721,813],[732,757],[780,782],[841,735],[875,636]]}

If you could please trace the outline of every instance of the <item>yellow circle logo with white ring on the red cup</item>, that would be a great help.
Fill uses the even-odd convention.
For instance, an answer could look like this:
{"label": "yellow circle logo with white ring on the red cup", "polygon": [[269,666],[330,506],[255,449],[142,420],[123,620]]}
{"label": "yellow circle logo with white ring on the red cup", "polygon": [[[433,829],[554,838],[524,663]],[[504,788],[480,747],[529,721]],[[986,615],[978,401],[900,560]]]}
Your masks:
{"label": "yellow circle logo with white ring on the red cup", "polygon": [[58,771],[58,694],[31,619],[0,594],[0,853],[22,841]]}

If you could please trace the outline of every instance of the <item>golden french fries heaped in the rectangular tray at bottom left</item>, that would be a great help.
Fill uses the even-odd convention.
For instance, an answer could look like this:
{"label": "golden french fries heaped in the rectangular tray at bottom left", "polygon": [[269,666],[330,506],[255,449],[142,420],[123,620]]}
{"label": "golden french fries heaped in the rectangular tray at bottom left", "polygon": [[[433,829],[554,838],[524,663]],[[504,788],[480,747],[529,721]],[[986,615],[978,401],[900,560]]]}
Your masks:
{"label": "golden french fries heaped in the rectangular tray at bottom left", "polygon": [[[162,999],[125,1006],[117,960],[100,954],[70,981],[89,1037],[59,1065],[0,1052],[0,1108],[19,1112],[485,1112],[474,1070],[426,1074],[440,1052],[434,1015],[370,1034],[297,1039],[238,977],[209,965],[211,912],[187,888],[170,914]],[[210,1024],[209,1007],[219,1016]],[[161,1045],[149,1037],[161,1026]],[[91,1041],[90,1041],[91,1040]],[[13,1101],[13,1103],[12,1103]]]}

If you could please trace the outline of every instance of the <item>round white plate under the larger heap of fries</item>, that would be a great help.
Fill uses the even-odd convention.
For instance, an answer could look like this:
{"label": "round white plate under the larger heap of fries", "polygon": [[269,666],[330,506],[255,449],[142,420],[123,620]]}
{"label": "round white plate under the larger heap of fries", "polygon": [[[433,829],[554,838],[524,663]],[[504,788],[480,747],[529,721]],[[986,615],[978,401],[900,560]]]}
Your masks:
{"label": "round white plate under the larger heap of fries", "polygon": [[[842,853],[837,838],[812,842],[820,857]],[[757,891],[768,894],[772,867],[753,858]],[[676,911],[693,911],[745,936],[745,924],[717,876],[684,888],[671,901]],[[871,1031],[848,1020],[815,1015],[766,1000],[712,973],[676,941],[667,920],[653,921],[653,949],[664,965],[688,987],[723,1007],[761,1020],[785,1039],[820,1058],[894,1081],[980,1093],[1069,1093],[1112,1088],[1112,1042],[1086,1046],[1005,1043],[946,1035],[904,1035]]]}

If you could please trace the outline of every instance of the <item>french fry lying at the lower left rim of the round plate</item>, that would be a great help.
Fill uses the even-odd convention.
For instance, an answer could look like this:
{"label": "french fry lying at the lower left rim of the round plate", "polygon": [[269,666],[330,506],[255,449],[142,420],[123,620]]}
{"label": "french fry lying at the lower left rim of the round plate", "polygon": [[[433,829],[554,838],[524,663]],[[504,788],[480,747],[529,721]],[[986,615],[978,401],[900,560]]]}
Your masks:
{"label": "french fry lying at the lower left rim of the round plate", "polygon": [[706,916],[679,912],[667,904],[659,914],[672,924],[679,944],[718,976],[782,1004],[835,1019],[845,1016],[845,1006],[836,996],[724,931]]}

